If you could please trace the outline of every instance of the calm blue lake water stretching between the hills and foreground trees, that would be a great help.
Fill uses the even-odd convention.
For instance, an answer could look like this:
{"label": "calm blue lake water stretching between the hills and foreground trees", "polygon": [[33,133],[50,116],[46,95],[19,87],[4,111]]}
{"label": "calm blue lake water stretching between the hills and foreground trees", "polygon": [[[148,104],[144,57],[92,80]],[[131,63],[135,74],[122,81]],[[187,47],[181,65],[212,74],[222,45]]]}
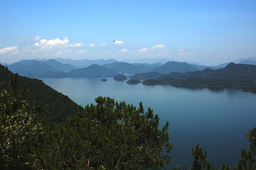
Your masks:
{"label": "calm blue lake water stretching between the hills and foreground trees", "polygon": [[42,80],[82,106],[94,103],[97,96],[109,96],[134,105],[142,101],[145,108],[151,107],[159,115],[160,126],[170,122],[173,149],[167,168],[176,164],[190,167],[191,149],[197,143],[214,166],[220,168],[226,162],[233,168],[241,149],[249,149],[244,135],[256,126],[256,93],[236,90],[248,85],[206,88],[127,84],[112,78],[105,82],[95,78]]}

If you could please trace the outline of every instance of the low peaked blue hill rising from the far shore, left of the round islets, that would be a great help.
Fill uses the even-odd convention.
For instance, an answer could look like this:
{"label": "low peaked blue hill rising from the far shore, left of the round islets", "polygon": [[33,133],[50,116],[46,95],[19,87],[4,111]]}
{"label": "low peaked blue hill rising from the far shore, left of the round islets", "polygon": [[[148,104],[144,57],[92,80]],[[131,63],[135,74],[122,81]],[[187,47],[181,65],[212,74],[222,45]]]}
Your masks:
{"label": "low peaked blue hill rising from the far shore, left of the round islets", "polygon": [[118,73],[114,70],[111,70],[107,67],[102,67],[96,64],[92,64],[86,68],[73,69],[69,72],[46,72],[41,74],[39,77],[48,77],[48,78],[61,78],[61,77],[70,77],[70,78],[80,78],[80,77],[112,77]]}

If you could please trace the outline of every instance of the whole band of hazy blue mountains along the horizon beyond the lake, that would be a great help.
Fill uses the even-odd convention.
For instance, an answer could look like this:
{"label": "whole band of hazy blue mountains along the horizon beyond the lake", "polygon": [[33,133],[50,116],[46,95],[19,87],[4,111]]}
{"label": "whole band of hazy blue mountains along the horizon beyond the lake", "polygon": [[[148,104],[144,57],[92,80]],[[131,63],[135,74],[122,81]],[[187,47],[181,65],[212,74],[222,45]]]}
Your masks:
{"label": "whole band of hazy blue mountains along the horizon beyond the lake", "polygon": [[[40,59],[38,59],[40,60]],[[115,59],[97,59],[97,60],[72,60],[72,59],[41,59],[41,61],[34,60],[21,60],[13,64],[6,64],[13,73],[19,73],[27,77],[108,77],[116,74],[136,74],[147,72],[158,73],[186,73],[194,71],[202,71],[206,68],[213,70],[224,68],[228,63],[220,64],[219,66],[203,66],[195,63],[188,64],[186,62],[167,61],[161,63],[159,61],[172,60],[172,59],[145,59],[141,61],[148,61],[152,63],[127,63],[117,62]],[[57,61],[58,60],[58,61]],[[256,65],[256,58],[250,57],[245,59],[238,59],[235,62],[241,64]],[[157,73],[157,74],[158,74]],[[141,77],[145,77],[146,74]],[[155,77],[156,74],[147,74],[146,77]]]}

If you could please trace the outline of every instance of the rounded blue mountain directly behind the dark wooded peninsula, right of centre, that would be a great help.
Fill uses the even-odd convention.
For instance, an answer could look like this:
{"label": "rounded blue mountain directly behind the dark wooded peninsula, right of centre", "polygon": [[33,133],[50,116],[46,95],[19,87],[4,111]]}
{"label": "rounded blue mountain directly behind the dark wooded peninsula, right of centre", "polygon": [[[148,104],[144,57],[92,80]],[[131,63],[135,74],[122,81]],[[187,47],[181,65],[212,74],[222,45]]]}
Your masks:
{"label": "rounded blue mountain directly behind the dark wooded peninsula, right of centre", "polygon": [[186,73],[186,72],[191,72],[191,71],[196,71],[198,70],[196,67],[191,66],[188,63],[185,62],[167,62],[163,66],[158,66],[152,70],[149,70],[149,72],[160,72],[160,73],[171,73],[171,72],[178,72],[178,73]]}

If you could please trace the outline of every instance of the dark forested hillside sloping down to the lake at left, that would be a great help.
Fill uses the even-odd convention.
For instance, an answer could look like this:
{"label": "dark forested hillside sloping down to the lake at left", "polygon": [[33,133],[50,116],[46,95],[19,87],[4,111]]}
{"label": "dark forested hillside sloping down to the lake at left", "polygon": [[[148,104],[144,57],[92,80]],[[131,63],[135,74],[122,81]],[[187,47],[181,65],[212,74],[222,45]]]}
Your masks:
{"label": "dark forested hillside sloping down to the lake at left", "polygon": [[[0,82],[4,81],[4,89],[11,90],[11,75],[15,76],[7,67],[0,64]],[[23,89],[26,86],[27,95],[24,100],[28,102],[27,109],[30,110],[36,103],[36,98],[42,102],[44,107],[47,107],[49,118],[52,121],[64,121],[68,117],[76,115],[79,111],[79,106],[73,102],[68,96],[52,89],[44,84],[42,80],[27,78],[18,75],[18,87]],[[41,115],[44,116],[44,115]]]}

